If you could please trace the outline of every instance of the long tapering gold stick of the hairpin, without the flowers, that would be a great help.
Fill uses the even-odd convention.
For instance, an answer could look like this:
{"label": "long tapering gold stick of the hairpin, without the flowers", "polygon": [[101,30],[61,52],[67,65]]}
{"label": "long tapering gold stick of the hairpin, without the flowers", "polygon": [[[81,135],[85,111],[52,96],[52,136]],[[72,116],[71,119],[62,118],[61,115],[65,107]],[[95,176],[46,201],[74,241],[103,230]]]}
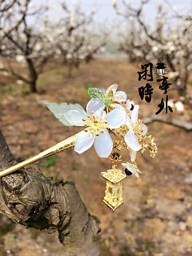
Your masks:
{"label": "long tapering gold stick of the hairpin, without the flowers", "polygon": [[60,143],[56,144],[55,146],[49,147],[48,149],[44,150],[43,152],[39,153],[38,155],[36,155],[32,158],[26,159],[21,163],[13,165],[12,167],[10,167],[4,171],[0,171],[0,177],[5,176],[9,173],[12,173],[13,171],[17,171],[26,165],[36,162],[39,159],[43,159],[43,158],[47,158],[47,157],[55,155],[55,154],[59,154],[63,151],[66,151],[66,150],[74,147],[77,136],[80,133],[81,132],[79,132],[78,134],[72,135],[71,137],[61,141]]}

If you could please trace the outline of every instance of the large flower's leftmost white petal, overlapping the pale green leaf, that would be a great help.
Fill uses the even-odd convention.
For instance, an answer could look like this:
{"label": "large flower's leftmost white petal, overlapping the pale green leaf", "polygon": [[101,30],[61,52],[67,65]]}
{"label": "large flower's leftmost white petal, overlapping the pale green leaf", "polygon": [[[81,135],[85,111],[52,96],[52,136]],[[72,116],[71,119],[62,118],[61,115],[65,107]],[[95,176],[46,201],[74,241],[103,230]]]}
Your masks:
{"label": "large flower's leftmost white petal, overlapping the pale green leaf", "polygon": [[68,122],[75,126],[84,126],[83,118],[87,116],[84,110],[69,110],[65,113],[65,118]]}

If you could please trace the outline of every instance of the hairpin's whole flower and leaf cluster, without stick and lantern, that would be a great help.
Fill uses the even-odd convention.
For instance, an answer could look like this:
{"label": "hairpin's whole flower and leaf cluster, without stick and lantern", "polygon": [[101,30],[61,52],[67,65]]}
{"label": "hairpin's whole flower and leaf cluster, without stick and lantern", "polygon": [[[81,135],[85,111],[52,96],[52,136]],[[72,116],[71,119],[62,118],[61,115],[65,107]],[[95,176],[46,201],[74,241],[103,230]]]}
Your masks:
{"label": "hairpin's whole flower and leaf cluster, without stick and lantern", "polygon": [[[117,150],[125,146],[134,162],[126,164],[127,170],[132,173],[136,170],[137,175],[136,152],[141,150],[143,154],[149,147],[150,156],[154,157],[157,148],[152,137],[144,136],[147,127],[138,120],[139,105],[133,105],[134,102],[127,99],[126,93],[117,91],[117,88],[116,84],[109,86],[106,91],[89,88],[88,94],[92,99],[87,103],[86,111],[79,104],[48,103],[47,106],[64,125],[84,126],[75,140],[74,150],[77,153],[82,154],[94,145],[100,158],[110,156],[114,168],[120,160]],[[116,136],[114,145],[109,132]]]}

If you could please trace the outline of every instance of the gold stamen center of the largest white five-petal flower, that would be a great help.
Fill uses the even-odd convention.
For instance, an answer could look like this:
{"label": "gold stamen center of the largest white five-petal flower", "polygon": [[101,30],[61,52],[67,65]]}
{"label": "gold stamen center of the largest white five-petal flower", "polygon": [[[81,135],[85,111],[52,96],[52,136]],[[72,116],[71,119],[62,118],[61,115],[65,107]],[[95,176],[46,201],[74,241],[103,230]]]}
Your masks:
{"label": "gold stamen center of the largest white five-petal flower", "polygon": [[99,135],[99,133],[104,133],[105,129],[107,129],[107,121],[97,121],[95,118],[95,112],[91,112],[92,115],[87,115],[86,118],[83,118],[84,126],[87,128],[84,129],[85,132],[89,132],[91,134],[96,134],[96,136]]}

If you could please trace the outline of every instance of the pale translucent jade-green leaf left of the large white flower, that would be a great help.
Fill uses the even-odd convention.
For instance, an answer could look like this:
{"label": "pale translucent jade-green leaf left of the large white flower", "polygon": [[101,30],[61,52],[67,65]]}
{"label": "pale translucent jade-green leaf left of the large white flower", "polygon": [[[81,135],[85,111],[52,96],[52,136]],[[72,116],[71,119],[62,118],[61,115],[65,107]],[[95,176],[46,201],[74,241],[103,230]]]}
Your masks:
{"label": "pale translucent jade-green leaf left of the large white flower", "polygon": [[72,126],[65,118],[65,113],[69,110],[84,110],[79,104],[67,104],[67,103],[48,103],[48,109],[54,114],[56,118],[60,120],[66,126]]}

